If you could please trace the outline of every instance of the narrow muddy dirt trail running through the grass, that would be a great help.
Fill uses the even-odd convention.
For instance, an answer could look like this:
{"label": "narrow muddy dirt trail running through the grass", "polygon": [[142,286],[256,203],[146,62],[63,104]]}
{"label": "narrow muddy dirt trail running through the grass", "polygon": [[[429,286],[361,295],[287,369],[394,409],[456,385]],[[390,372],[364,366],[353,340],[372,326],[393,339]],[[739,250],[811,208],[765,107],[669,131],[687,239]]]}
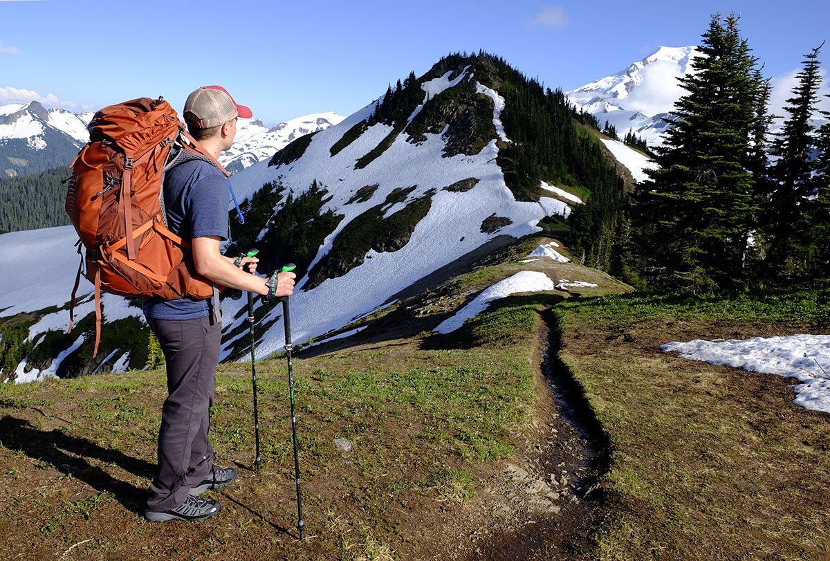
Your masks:
{"label": "narrow muddy dirt trail running through the grass", "polygon": [[591,532],[603,516],[598,479],[608,471],[610,442],[557,358],[553,312],[545,320],[539,402],[524,449],[486,478],[475,504],[456,513],[456,531],[444,536],[443,546],[411,559],[591,558]]}

